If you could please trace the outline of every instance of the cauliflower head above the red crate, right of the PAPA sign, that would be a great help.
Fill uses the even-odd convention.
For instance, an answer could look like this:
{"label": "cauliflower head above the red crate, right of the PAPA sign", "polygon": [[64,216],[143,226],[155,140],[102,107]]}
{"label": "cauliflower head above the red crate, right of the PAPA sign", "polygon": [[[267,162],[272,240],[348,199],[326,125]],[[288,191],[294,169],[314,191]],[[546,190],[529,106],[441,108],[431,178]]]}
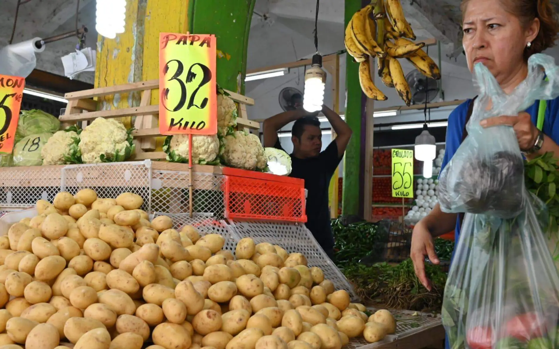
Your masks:
{"label": "cauliflower head above the red crate, right of the PAPA sign", "polygon": [[257,169],[263,171],[266,168],[267,159],[264,155],[264,147],[260,144],[257,135],[234,131],[233,134],[223,138],[223,143],[221,159],[226,166],[252,171]]}

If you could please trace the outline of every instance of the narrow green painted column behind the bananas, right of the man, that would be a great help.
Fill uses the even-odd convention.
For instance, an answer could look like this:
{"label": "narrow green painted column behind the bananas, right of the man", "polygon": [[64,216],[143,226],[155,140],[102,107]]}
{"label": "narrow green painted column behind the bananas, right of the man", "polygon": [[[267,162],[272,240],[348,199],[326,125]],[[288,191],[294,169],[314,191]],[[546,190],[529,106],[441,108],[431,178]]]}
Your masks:
{"label": "narrow green painted column behind the bananas, right of the man", "polygon": [[[353,14],[360,8],[362,8],[361,0],[345,0],[345,26],[348,25]],[[359,84],[359,63],[354,62],[349,55],[345,60],[345,87],[347,89],[345,122],[353,131],[347,150],[345,150],[343,173],[342,215],[347,217],[360,214],[359,197],[362,192],[362,183],[359,183],[359,173],[362,171],[361,115],[364,110],[363,92],[361,91],[361,84]]]}

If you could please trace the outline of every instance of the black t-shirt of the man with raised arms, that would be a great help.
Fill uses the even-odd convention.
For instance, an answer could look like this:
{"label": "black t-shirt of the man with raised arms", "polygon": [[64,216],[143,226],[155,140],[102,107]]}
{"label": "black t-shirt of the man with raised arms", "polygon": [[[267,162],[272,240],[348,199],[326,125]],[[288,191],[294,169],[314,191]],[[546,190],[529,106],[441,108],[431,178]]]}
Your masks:
{"label": "black t-shirt of the man with raised arms", "polygon": [[[274,148],[283,150],[280,140],[276,142]],[[338,145],[333,141],[324,149],[324,152],[310,159],[299,159],[293,154],[290,156],[292,167],[290,177],[305,180],[307,190],[307,223],[305,225],[320,246],[328,252],[334,247],[328,208],[328,187],[334,171],[342,160],[341,157],[338,157]]]}

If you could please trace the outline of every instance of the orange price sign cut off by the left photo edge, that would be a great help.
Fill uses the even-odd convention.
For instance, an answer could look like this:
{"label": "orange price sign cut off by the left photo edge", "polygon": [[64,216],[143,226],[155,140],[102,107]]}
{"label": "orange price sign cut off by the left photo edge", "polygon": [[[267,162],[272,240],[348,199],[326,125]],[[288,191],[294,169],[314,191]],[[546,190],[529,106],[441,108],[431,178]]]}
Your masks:
{"label": "orange price sign cut off by the left photo edge", "polygon": [[25,78],[0,74],[0,154],[11,154]]}

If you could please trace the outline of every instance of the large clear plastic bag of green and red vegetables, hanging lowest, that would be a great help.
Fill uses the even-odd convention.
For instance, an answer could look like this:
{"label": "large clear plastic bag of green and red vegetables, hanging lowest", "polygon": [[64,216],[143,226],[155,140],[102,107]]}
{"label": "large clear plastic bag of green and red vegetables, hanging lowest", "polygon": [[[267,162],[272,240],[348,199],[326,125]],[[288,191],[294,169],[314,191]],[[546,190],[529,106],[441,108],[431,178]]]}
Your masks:
{"label": "large clear plastic bag of green and red vegetables, hanging lowest", "polygon": [[513,219],[465,215],[443,299],[452,349],[559,348],[559,275],[541,229],[543,202],[524,192]]}

